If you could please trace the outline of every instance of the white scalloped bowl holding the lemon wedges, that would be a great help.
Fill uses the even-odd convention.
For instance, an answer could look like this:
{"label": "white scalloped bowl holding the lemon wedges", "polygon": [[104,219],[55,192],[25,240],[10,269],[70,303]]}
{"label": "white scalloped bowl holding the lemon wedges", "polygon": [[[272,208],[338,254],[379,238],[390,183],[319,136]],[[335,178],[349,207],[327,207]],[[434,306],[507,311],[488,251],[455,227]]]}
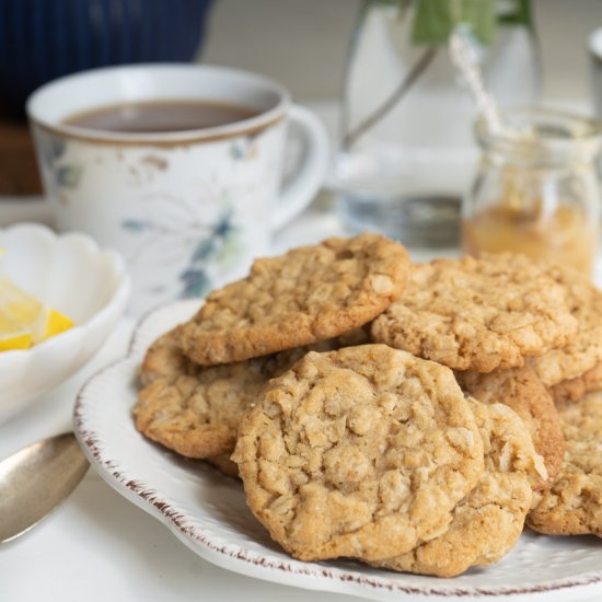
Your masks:
{"label": "white scalloped bowl holding the lemon wedges", "polygon": [[0,422],[71,377],[123,315],[130,282],[124,262],[84,234],[37,224],[0,229],[0,275],[74,321],[26,350],[0,352]]}

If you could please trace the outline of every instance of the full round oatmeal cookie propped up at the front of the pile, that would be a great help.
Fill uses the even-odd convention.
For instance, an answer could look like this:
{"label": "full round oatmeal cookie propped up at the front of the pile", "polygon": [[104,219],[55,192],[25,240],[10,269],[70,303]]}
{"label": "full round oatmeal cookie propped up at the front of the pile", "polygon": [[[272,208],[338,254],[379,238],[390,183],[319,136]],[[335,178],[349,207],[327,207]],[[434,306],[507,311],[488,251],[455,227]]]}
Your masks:
{"label": "full round oatmeal cookie propped up at the front of the pile", "polygon": [[483,472],[453,373],[384,345],[308,354],[243,417],[247,503],[296,558],[380,560],[443,532]]}

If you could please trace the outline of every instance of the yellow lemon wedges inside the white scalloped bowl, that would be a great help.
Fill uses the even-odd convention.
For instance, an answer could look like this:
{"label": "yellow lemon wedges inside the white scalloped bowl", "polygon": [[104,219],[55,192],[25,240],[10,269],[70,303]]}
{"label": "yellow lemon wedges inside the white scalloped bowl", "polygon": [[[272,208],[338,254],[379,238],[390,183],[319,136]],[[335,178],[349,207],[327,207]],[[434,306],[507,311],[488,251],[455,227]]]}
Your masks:
{"label": "yellow lemon wedges inside the white scalloped bowl", "polygon": [[27,349],[72,326],[69,317],[0,277],[0,351]]}

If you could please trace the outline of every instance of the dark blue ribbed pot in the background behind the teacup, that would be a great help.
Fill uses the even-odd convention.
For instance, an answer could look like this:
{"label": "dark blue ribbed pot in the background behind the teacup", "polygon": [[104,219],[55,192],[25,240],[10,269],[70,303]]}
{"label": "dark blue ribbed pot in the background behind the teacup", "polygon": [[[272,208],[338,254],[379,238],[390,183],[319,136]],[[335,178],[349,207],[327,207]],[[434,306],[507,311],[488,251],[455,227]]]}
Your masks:
{"label": "dark blue ribbed pot in the background behind the teacup", "polygon": [[211,0],[0,0],[0,104],[37,86],[129,62],[188,61]]}

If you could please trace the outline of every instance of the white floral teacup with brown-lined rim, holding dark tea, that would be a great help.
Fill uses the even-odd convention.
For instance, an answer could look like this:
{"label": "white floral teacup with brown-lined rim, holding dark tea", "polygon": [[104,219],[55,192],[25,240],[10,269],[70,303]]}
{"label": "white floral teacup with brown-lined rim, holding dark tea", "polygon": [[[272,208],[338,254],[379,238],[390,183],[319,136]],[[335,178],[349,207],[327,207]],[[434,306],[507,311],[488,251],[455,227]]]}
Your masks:
{"label": "white floral teacup with brown-lined rim, holding dark tea", "polygon": [[[244,106],[250,116],[154,132],[66,123],[112,105],[197,100]],[[273,232],[310,204],[329,161],[323,126],[282,85],[228,68],[85,71],[38,89],[27,114],[57,229],[123,254],[132,314],[243,276],[269,253]],[[303,148],[281,188],[289,124]]]}

